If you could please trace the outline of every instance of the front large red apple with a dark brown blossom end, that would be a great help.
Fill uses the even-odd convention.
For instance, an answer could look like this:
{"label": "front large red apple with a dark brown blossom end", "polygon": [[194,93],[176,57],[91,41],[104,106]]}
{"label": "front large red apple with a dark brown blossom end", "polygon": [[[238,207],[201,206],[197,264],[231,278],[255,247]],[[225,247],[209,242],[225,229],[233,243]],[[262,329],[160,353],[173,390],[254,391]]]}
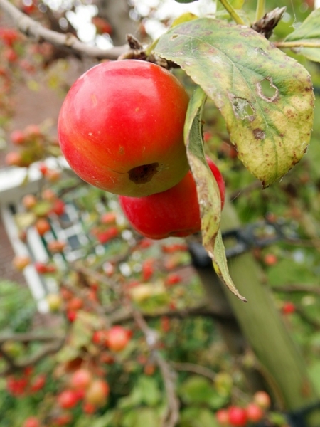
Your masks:
{"label": "front large red apple with a dark brown blossom end", "polygon": [[70,88],[58,118],[60,147],[81,179],[141,197],[188,172],[188,94],[169,71],[142,60],[95,65]]}

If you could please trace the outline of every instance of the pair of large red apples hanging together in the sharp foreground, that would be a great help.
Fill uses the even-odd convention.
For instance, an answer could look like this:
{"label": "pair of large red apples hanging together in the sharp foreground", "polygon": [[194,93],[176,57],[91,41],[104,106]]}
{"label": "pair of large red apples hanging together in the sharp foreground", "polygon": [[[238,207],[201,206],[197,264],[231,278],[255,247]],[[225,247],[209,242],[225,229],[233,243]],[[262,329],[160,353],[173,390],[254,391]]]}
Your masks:
{"label": "pair of large red apples hanging together in the sharp foreground", "polygon": [[[149,238],[201,230],[183,142],[187,107],[185,88],[167,70],[118,60],[96,65],[76,80],[60,110],[60,147],[70,167],[90,184],[119,194],[129,223]],[[223,208],[223,178],[212,160],[207,162]]]}

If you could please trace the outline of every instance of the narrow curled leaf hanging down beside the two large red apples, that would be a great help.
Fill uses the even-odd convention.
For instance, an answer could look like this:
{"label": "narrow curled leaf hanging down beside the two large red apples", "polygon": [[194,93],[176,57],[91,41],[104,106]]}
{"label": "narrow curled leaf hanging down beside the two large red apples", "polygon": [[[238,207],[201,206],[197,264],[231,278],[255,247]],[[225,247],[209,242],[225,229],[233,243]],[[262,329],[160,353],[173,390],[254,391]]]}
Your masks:
{"label": "narrow curled leaf hanging down beside the two large red apples", "polygon": [[201,88],[198,88],[193,93],[193,97],[188,105],[184,127],[188,162],[197,186],[203,246],[213,259],[215,267],[218,266],[215,270],[225,285],[240,300],[245,300],[235,288],[228,271],[225,248],[220,233],[220,191],[208,167],[203,150],[201,113],[205,100],[206,94]]}

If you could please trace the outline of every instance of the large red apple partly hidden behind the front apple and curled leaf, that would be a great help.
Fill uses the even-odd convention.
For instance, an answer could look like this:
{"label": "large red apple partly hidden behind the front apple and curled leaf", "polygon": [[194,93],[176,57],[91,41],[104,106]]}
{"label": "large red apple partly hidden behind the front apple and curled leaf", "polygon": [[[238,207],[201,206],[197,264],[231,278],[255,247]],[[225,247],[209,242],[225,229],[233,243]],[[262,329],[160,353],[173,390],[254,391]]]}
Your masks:
{"label": "large red apple partly hidden behind the front apple and curled leaf", "polygon": [[[207,162],[219,186],[223,209],[223,177],[211,159]],[[132,227],[145,237],[186,237],[201,230],[196,183],[190,171],[169,190],[140,198],[119,196],[119,203]]]}

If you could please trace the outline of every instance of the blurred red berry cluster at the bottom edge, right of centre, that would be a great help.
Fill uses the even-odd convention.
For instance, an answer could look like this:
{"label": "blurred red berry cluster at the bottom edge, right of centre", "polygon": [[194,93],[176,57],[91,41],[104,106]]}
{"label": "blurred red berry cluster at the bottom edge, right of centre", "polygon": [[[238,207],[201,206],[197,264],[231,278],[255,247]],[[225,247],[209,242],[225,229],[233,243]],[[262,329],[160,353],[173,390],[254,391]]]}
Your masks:
{"label": "blurred red berry cluster at the bottom edge, right of centre", "polygon": [[252,401],[245,406],[229,406],[215,413],[220,426],[243,427],[248,423],[258,423],[270,408],[270,396],[265,391],[257,391]]}

